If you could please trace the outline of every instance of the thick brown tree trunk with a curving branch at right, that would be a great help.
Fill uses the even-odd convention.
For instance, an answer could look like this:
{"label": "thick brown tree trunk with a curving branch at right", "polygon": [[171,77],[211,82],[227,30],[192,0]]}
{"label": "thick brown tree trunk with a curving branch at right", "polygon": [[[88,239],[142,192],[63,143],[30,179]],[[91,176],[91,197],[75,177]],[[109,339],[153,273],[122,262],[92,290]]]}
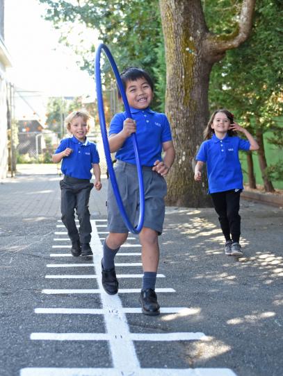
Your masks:
{"label": "thick brown tree trunk with a curving branch at right", "polygon": [[[193,161],[209,117],[209,76],[213,64],[247,40],[255,0],[243,0],[236,27],[227,33],[209,31],[202,1],[159,0],[165,42],[166,99],[177,157],[168,176],[168,203],[208,204],[205,185],[193,180]],[[221,22],[215,15],[216,22]]]}

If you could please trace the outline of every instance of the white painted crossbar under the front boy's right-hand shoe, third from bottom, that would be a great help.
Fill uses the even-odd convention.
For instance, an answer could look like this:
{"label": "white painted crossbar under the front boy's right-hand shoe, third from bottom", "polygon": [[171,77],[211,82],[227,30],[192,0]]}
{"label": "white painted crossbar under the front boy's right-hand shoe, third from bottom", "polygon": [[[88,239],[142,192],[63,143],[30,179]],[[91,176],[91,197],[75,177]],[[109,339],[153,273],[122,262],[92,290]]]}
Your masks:
{"label": "white painted crossbar under the front boy's right-hand shoe, third from bottom", "polygon": [[[179,314],[186,313],[189,308],[186,307],[161,307],[161,314]],[[105,314],[106,309],[100,308],[35,308],[35,314],[86,314],[86,315],[102,315]],[[112,314],[116,314],[115,311],[108,309]],[[141,308],[127,308],[122,309],[124,314],[140,314]]]}

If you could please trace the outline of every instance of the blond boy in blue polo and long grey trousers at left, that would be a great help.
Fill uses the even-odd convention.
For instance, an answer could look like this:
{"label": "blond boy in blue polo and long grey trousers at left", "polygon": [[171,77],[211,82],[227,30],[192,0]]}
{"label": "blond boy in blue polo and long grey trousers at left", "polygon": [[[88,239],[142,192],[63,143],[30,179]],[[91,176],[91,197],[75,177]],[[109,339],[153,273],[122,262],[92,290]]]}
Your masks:
{"label": "blond boy in blue polo and long grey trousers at left", "polygon": [[[88,202],[93,187],[99,191],[100,181],[99,155],[94,142],[86,135],[90,130],[90,114],[86,110],[74,111],[65,119],[65,125],[72,137],[62,139],[52,156],[52,161],[62,160],[61,170],[64,174],[60,181],[62,221],[72,241],[73,256],[90,256],[91,225]],[[92,184],[92,169],[95,183]],[[74,209],[79,218],[79,231],[74,221]]]}

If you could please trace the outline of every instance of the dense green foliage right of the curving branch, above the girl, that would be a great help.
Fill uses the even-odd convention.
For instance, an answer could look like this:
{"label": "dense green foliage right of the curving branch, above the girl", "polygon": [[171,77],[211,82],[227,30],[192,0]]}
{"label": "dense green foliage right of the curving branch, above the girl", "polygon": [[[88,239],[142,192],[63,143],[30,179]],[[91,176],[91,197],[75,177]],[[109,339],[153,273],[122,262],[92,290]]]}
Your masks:
{"label": "dense green foliage right of the curving branch, above the girl", "polygon": [[211,110],[229,108],[237,121],[263,132],[277,128],[283,110],[282,17],[282,2],[256,3],[251,37],[213,67]]}

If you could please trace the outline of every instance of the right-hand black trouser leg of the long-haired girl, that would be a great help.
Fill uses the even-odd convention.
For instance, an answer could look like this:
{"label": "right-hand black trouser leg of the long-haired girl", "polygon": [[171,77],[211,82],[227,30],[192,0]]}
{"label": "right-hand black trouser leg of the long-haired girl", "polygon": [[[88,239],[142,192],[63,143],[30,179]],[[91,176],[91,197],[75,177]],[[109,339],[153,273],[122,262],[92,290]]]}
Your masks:
{"label": "right-hand black trouser leg of the long-haired girl", "polygon": [[229,221],[229,228],[232,235],[232,241],[238,243],[241,234],[241,216],[240,210],[240,195],[241,191],[229,191],[226,195],[227,202],[227,219]]}

